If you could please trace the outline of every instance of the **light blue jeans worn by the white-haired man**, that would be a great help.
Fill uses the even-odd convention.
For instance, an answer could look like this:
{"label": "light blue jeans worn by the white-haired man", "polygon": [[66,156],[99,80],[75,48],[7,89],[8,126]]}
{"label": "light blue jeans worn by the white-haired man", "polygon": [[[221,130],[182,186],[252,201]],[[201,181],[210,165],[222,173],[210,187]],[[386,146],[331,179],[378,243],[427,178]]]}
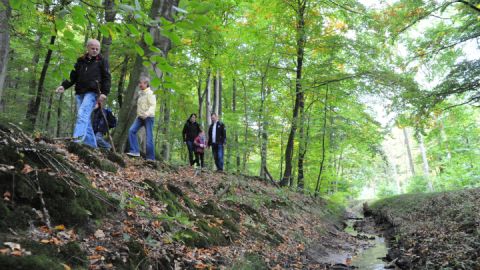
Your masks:
{"label": "light blue jeans worn by the white-haired man", "polygon": [[75,142],[84,143],[93,148],[97,147],[97,140],[92,128],[91,115],[97,103],[97,94],[87,92],[85,94],[75,95],[77,100],[77,121],[73,130]]}

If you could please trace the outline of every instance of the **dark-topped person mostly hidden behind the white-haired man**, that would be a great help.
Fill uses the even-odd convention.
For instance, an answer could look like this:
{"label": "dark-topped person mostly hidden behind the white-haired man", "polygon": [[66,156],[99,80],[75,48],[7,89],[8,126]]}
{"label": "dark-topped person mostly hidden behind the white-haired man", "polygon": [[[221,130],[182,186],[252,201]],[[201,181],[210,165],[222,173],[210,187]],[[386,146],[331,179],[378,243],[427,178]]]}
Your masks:
{"label": "dark-topped person mostly hidden behind the white-haired man", "polygon": [[103,108],[102,104],[97,103],[95,105],[95,110],[93,111],[93,132],[95,133],[98,147],[105,149],[112,148],[112,145],[105,140],[104,136],[109,129],[116,126],[117,118],[113,115],[112,110]]}

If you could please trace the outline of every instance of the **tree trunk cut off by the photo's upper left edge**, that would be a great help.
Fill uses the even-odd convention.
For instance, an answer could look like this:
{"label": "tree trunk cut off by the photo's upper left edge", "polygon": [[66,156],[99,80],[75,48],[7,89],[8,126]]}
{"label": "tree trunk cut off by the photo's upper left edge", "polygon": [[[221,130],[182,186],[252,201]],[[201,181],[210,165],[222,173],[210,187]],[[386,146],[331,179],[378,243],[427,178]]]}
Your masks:
{"label": "tree trunk cut off by the photo's upper left edge", "polygon": [[7,77],[8,53],[10,50],[10,16],[12,10],[9,0],[0,2],[0,104],[2,103],[5,78]]}

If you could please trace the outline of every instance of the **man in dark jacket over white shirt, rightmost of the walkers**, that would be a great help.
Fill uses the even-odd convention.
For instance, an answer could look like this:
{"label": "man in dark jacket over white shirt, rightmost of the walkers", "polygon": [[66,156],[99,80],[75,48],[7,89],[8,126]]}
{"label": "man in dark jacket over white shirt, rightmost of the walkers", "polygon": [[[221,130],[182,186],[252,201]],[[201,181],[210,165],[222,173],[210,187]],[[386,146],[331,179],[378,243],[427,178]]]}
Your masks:
{"label": "man in dark jacket over white shirt, rightmost of the walkers", "polygon": [[212,124],[208,128],[208,146],[212,146],[217,171],[223,171],[223,147],[227,142],[227,128],[218,120],[216,113],[212,113],[211,118]]}

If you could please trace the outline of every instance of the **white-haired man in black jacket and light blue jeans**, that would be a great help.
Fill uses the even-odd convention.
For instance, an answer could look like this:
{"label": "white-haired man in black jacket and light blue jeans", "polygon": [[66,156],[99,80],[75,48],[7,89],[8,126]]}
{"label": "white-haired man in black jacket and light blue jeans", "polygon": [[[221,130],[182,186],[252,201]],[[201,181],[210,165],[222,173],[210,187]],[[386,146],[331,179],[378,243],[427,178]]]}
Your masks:
{"label": "white-haired man in black jacket and light blue jeans", "polygon": [[97,102],[105,101],[111,85],[109,64],[100,54],[98,40],[88,40],[87,53],[77,59],[74,69],[70,72],[70,79],[63,81],[56,92],[63,93],[74,84],[78,111],[73,138],[75,142],[96,148],[97,141],[92,128],[91,114]]}

